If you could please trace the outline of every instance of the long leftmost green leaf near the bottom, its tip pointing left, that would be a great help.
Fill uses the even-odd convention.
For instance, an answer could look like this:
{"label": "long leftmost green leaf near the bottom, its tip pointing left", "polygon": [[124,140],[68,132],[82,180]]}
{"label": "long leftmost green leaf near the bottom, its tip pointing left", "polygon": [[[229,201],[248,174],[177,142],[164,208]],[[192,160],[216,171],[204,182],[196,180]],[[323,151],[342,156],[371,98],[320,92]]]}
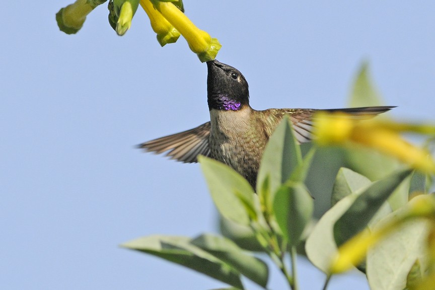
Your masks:
{"label": "long leftmost green leaf near the bottom, its tip pointing left", "polygon": [[237,270],[190,244],[190,241],[187,237],[155,235],[129,241],[121,247],[163,258],[243,289]]}

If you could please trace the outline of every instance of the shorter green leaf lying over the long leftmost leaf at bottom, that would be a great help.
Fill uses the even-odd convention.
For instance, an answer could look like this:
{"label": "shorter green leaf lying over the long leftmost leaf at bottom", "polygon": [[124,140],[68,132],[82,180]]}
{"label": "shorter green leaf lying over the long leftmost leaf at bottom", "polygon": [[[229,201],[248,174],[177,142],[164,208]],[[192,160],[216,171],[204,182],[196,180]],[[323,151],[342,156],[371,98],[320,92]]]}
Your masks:
{"label": "shorter green leaf lying over the long leftmost leaf at bottom", "polygon": [[245,254],[231,240],[219,236],[201,235],[191,243],[229,264],[263,288],[266,287],[269,272],[267,265],[260,259]]}

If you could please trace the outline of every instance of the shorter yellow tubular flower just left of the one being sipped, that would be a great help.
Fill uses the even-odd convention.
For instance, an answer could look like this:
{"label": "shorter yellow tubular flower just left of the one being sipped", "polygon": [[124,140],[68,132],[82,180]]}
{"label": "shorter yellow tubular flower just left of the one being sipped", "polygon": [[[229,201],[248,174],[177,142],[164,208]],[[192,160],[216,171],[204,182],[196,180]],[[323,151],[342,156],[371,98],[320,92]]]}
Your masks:
{"label": "shorter yellow tubular flower just left of the one being sipped", "polygon": [[167,43],[176,42],[180,37],[180,32],[154,8],[150,0],[140,0],[139,3],[150,18],[151,27],[157,33],[160,45],[165,46]]}

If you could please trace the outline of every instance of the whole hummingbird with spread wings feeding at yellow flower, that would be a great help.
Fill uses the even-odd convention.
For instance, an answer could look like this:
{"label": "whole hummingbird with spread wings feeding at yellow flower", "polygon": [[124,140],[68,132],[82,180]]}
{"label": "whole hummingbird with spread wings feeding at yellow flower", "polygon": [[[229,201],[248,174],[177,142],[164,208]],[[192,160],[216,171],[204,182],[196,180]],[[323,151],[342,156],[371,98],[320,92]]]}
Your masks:
{"label": "whole hummingbird with spread wings feeding at yellow flower", "polygon": [[236,68],[207,61],[207,103],[210,121],[196,128],[139,144],[148,152],[167,152],[171,159],[197,162],[198,155],[229,165],[244,176],[255,189],[258,168],[269,137],[284,116],[293,123],[299,143],[312,140],[312,117],[316,112],[342,112],[375,116],[393,106],[345,109],[267,109],[249,105],[248,82]]}

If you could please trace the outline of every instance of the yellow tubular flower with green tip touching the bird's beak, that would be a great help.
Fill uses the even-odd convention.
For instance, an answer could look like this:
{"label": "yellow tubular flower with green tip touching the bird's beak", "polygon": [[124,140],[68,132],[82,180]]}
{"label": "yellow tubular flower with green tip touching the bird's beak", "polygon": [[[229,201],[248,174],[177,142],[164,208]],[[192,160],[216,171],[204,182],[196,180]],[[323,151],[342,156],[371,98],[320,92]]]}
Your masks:
{"label": "yellow tubular flower with green tip touching the bird's beak", "polygon": [[217,39],[197,28],[174,4],[155,0],[153,5],[183,35],[190,50],[195,52],[202,62],[216,57],[222,46]]}

